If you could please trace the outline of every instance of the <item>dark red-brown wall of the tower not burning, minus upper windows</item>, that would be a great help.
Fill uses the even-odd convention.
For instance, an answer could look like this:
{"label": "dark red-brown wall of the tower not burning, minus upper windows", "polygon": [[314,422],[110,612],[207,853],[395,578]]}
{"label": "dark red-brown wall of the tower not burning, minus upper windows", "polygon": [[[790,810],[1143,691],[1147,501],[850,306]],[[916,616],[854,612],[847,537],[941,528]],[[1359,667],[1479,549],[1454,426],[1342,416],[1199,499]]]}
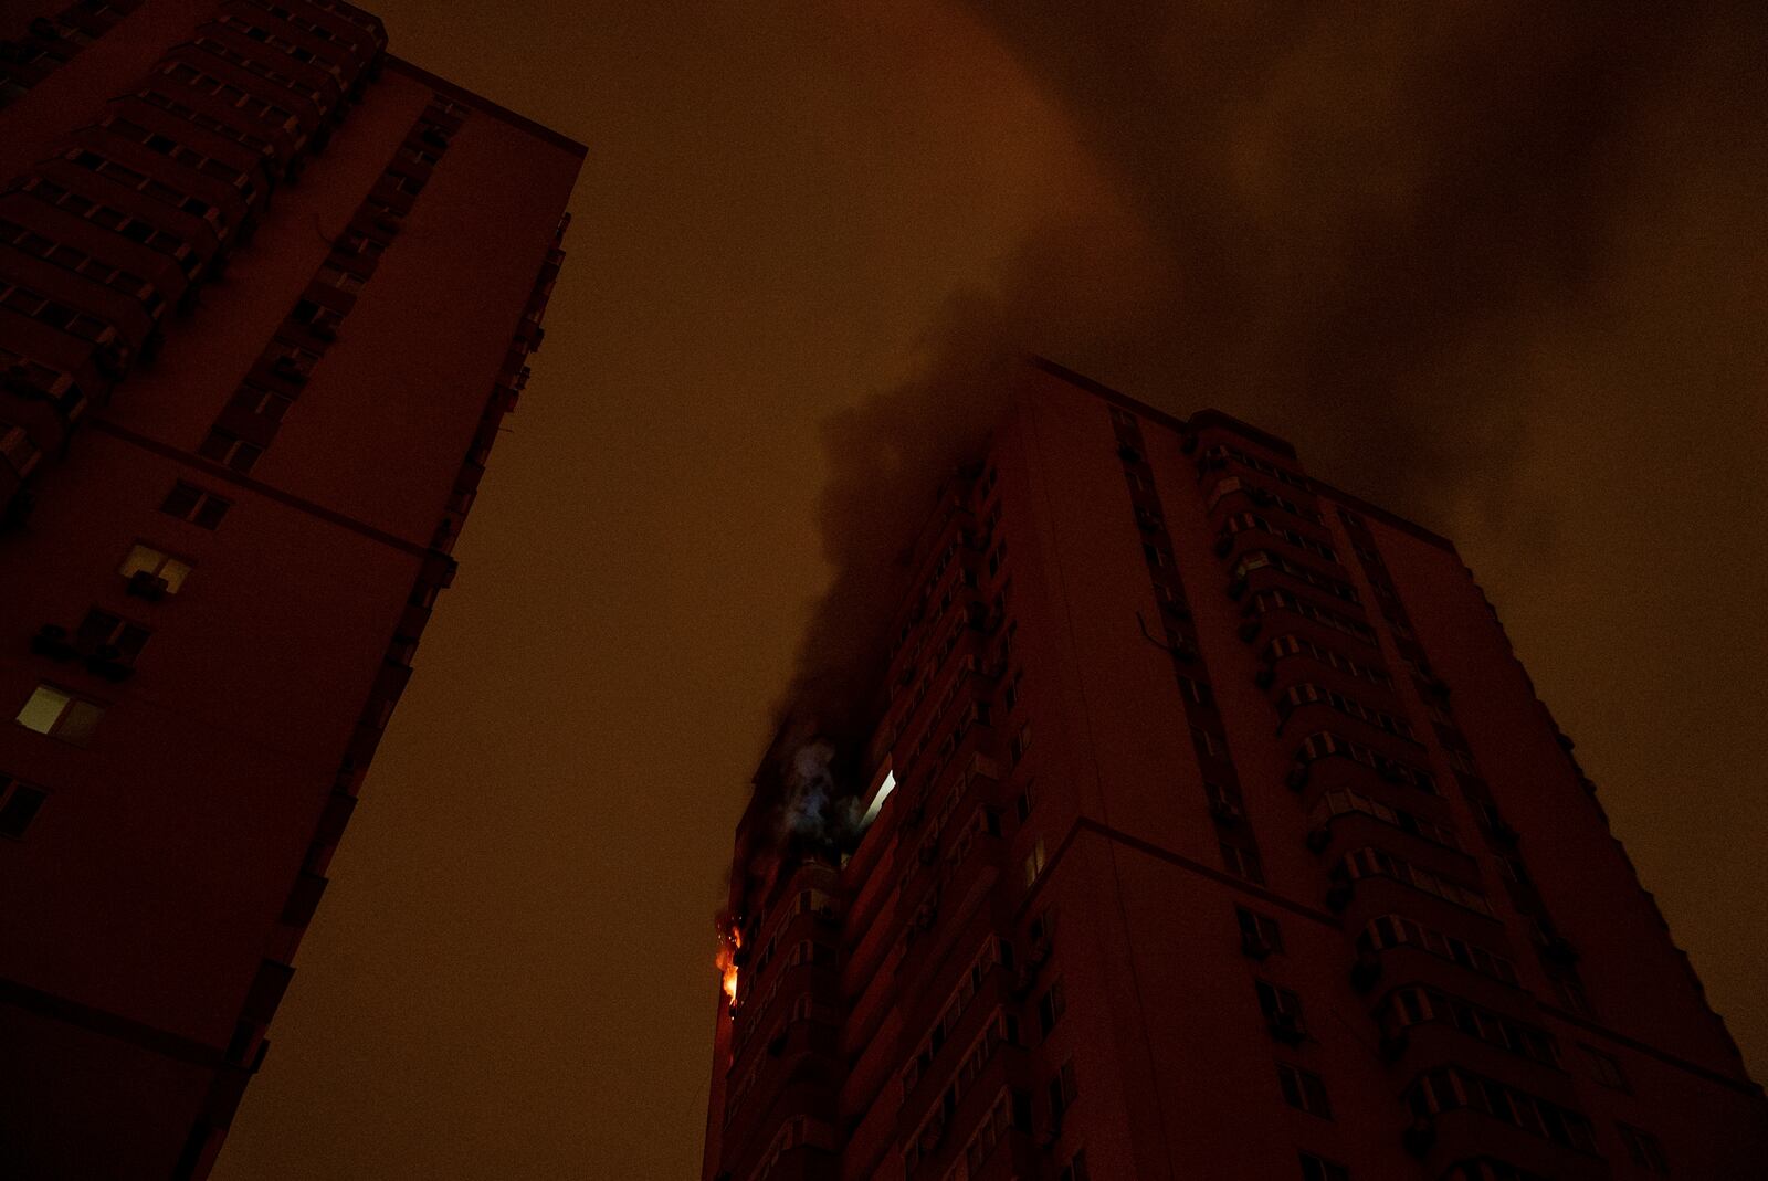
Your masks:
{"label": "dark red-brown wall of the tower not burning, minus upper windows", "polygon": [[[378,35],[378,21],[339,16],[347,5],[290,7],[341,30],[320,41],[283,28],[295,44],[338,57],[336,37],[361,48]],[[272,21],[255,5],[149,0],[35,81],[0,110],[0,180],[69,143],[111,152],[108,133],[80,127],[217,12]],[[278,69],[324,76],[240,39]],[[368,71],[366,55],[352,69]],[[278,157],[274,196],[258,173],[244,212],[226,216],[240,233],[225,267],[193,267],[196,299],[166,308],[152,364],[134,357],[115,387],[80,370],[87,414],[58,428],[71,426],[65,451],[44,440],[28,500],[9,497],[23,523],[0,532],[0,776],[48,792],[19,838],[0,840],[0,1160],[19,1176],[207,1176],[428,603],[447,583],[483,447],[539,339],[582,147],[417,67],[375,69],[357,101],[301,126],[308,147]],[[272,83],[251,87],[299,106]],[[219,136],[157,108],[129,118],[221,154]],[[292,140],[279,143],[286,152]],[[385,193],[389,166],[423,187],[392,198],[407,212],[375,230],[378,262],[359,267],[354,293],[315,285],[339,258],[334,242],[371,225],[361,210]],[[196,187],[170,163],[164,177]],[[58,240],[78,230],[113,265],[141,258],[136,242],[35,194],[4,200],[0,216]],[[177,221],[145,194],[106,200]],[[42,267],[0,260],[0,278]],[[99,315],[111,306],[111,292],[76,283],[55,295]],[[332,339],[288,320],[304,297],[347,313]],[[265,377],[260,357],[276,339],[322,354],[304,382]],[[12,316],[0,347],[46,347],[65,364],[85,345]],[[292,401],[239,470],[198,453],[217,421],[237,419],[228,407],[248,380]],[[0,421],[37,414],[41,401],[12,392]],[[232,502],[217,529],[161,511],[175,481]],[[136,543],[193,568],[177,594],[129,592],[118,566]],[[41,628],[72,631],[88,608],[152,629],[127,679],[88,670],[85,652],[34,649]],[[88,744],[12,721],[39,682],[104,707]]]}

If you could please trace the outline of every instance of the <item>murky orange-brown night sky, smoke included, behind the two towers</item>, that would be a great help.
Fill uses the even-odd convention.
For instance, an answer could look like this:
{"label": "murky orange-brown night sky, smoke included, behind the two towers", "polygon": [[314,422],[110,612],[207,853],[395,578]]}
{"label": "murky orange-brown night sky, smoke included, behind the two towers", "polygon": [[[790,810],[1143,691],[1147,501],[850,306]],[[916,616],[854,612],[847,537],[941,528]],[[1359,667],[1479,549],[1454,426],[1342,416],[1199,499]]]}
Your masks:
{"label": "murky orange-brown night sky, smoke included, behind the two towers", "polygon": [[1020,348],[1453,537],[1768,1071],[1768,9],[371,7],[589,159],[221,1181],[697,1176],[748,776]]}

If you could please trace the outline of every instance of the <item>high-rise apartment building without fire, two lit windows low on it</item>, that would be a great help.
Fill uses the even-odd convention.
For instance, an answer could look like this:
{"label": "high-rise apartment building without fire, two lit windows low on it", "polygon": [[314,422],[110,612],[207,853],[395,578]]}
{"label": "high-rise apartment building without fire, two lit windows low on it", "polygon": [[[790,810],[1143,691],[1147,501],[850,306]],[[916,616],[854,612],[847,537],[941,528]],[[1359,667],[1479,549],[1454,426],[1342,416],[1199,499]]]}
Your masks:
{"label": "high-rise apartment building without fire, two lit windows low on it", "polygon": [[202,1177],[583,149],[336,0],[0,7],[0,1176]]}

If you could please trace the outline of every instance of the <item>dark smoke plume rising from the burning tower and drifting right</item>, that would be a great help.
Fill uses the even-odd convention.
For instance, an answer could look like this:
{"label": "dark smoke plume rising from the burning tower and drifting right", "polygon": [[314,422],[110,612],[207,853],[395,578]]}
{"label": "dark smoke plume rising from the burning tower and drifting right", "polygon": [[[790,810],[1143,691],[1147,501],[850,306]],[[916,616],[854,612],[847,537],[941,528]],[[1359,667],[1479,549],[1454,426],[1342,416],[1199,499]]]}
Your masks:
{"label": "dark smoke plume rising from the burning tower and drifting right", "polygon": [[[1674,311],[1607,265],[1641,194],[1688,171],[1761,193],[1757,4],[972,9],[1110,196],[1024,242],[994,290],[953,299],[916,380],[826,423],[834,576],[792,690],[824,718],[852,712],[900,546],[979,447],[1018,352],[1264,424],[1427,523],[1497,514],[1547,375],[1588,368],[1566,338],[1605,355],[1627,332],[1637,350],[1641,313]],[[1726,256],[1704,246],[1706,263]],[[1759,255],[1715,279],[1747,286]],[[1628,324],[1604,322],[1616,306]]]}

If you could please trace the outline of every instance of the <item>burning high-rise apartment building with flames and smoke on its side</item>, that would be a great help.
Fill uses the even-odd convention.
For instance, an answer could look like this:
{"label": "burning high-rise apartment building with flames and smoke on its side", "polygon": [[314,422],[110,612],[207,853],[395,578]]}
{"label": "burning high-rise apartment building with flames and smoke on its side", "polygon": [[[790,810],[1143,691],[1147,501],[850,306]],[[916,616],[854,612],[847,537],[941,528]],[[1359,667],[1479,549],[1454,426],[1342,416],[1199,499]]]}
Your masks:
{"label": "burning high-rise apartment building with flames and smoke on its side", "polygon": [[1038,364],[912,553],[870,732],[757,776],[705,1181],[1761,1176],[1448,541]]}

